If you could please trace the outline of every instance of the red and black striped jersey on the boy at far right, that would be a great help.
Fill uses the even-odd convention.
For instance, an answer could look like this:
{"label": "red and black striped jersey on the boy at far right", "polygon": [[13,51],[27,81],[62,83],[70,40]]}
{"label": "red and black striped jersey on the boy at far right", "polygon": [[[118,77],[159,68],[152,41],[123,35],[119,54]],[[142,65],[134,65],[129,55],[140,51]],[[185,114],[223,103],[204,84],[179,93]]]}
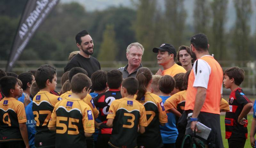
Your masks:
{"label": "red and black striped jersey on the boy at far right", "polygon": [[241,137],[247,139],[247,116],[245,117],[247,124],[241,125],[238,123],[238,116],[241,114],[244,105],[251,103],[251,101],[244,95],[241,88],[237,88],[229,95],[229,111],[225,116],[226,139],[230,137]]}

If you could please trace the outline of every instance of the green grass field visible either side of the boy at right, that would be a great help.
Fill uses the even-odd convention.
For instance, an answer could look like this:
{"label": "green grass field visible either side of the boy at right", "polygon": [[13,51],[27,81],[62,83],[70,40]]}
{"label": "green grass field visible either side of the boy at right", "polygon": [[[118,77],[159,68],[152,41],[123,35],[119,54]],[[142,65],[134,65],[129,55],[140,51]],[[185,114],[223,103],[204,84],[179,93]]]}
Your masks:
{"label": "green grass field visible either side of the boy at right", "polygon": [[[248,119],[248,139],[246,139],[244,148],[251,148],[250,144],[250,130],[251,130],[251,125],[252,125],[252,115],[247,116]],[[225,148],[228,148],[228,140],[225,139],[225,115],[220,116],[220,126],[221,126],[221,134],[222,134],[222,140]]]}

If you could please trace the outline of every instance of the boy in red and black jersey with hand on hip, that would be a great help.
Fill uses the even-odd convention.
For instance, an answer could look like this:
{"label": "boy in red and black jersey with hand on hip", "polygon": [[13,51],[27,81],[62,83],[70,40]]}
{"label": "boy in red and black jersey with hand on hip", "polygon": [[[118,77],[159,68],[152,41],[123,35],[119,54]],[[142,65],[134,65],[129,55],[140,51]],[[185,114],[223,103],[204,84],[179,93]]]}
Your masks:
{"label": "boy in red and black jersey with hand on hip", "polygon": [[245,96],[239,85],[244,81],[244,70],[231,67],[224,71],[223,84],[230,88],[229,108],[225,116],[226,139],[229,148],[243,148],[247,139],[247,114],[252,109],[252,102]]}

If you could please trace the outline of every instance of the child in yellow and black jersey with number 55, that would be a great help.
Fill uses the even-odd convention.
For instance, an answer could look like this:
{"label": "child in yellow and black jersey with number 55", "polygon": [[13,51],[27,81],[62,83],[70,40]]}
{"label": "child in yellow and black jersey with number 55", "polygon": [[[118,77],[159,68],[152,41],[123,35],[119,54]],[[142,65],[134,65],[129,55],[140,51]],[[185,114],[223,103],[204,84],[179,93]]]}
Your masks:
{"label": "child in yellow and black jersey with number 55", "polygon": [[55,105],[48,128],[56,131],[56,148],[86,147],[85,137],[94,133],[92,109],[83,101],[91,84],[85,74],[74,75],[72,94]]}

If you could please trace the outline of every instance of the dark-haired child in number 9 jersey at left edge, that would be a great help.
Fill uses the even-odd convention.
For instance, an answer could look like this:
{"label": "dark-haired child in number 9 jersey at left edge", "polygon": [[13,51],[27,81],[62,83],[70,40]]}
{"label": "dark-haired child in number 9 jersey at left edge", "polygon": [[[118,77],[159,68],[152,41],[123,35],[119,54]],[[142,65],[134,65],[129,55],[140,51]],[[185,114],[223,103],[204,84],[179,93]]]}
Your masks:
{"label": "dark-haired child in number 9 jersey at left edge", "polygon": [[25,108],[15,99],[21,94],[17,78],[4,76],[0,79],[0,86],[5,96],[0,101],[0,147],[28,148]]}

